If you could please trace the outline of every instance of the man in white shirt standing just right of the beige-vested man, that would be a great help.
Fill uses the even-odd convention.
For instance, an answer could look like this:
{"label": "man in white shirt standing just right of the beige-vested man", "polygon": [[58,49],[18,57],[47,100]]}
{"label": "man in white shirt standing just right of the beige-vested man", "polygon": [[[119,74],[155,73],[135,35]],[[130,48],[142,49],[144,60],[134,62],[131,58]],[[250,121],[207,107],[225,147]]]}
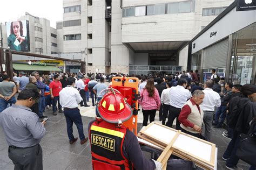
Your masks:
{"label": "man in white shirt standing just right of the beige-vested man", "polygon": [[203,103],[201,103],[201,108],[204,111],[204,124],[205,124],[205,133],[204,137],[210,141],[211,140],[211,130],[212,130],[212,121],[213,121],[213,114],[214,108],[220,107],[220,95],[212,90],[214,85],[214,81],[207,80],[204,86],[204,94],[205,98]]}

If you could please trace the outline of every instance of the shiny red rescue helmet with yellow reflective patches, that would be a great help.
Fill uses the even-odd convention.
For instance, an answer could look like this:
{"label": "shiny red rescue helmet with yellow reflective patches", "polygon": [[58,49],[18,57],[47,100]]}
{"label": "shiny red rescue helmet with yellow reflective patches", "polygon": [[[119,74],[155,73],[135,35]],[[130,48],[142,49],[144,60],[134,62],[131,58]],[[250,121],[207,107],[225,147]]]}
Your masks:
{"label": "shiny red rescue helmet with yellow reflective patches", "polygon": [[130,119],[132,108],[118,90],[108,88],[100,93],[105,94],[96,107],[100,117],[109,123],[120,123]]}

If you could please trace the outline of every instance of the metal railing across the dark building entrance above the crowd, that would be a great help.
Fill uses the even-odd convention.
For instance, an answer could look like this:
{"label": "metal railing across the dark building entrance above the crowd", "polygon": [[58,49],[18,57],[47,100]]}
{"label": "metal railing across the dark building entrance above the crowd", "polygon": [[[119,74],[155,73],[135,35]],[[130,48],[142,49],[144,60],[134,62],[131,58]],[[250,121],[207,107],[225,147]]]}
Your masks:
{"label": "metal railing across the dark building entrance above the crowd", "polygon": [[148,73],[165,73],[178,74],[182,71],[182,66],[145,66],[130,65],[129,74],[148,74]]}

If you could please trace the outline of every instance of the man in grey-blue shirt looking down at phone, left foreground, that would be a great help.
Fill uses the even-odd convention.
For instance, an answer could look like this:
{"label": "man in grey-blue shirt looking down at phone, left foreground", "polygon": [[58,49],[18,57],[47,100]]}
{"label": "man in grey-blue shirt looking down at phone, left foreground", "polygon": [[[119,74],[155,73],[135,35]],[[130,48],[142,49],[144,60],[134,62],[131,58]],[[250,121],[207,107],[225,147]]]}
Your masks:
{"label": "man in grey-blue shirt looking down at phone, left foreground", "polygon": [[18,101],[0,114],[14,169],[43,169],[39,143],[45,134],[46,122],[39,122],[38,116],[30,109],[39,97],[36,89],[24,89],[19,93]]}

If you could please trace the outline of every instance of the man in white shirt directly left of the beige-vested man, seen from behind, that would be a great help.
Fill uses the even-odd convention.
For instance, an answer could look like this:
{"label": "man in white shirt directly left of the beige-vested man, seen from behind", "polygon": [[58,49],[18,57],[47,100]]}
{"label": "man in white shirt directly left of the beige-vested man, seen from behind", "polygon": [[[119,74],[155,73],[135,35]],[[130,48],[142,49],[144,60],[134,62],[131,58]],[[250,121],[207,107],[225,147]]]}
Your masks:
{"label": "man in white shirt directly left of the beige-vested man, seen from behind", "polygon": [[172,128],[174,119],[176,118],[176,129],[180,129],[180,122],[178,120],[181,108],[192,97],[189,90],[185,89],[187,86],[186,79],[179,79],[176,87],[170,89],[170,114],[168,116],[167,126]]}

